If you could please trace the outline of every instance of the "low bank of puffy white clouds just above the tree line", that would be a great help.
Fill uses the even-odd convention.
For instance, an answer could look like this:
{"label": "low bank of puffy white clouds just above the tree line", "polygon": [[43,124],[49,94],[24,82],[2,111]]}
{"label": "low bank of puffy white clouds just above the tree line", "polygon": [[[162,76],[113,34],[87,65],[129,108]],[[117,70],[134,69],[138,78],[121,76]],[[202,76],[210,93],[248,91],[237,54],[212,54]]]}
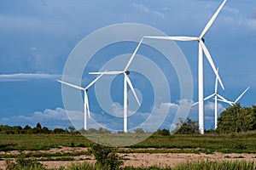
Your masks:
{"label": "low bank of puffy white clouds just above the tree line", "polygon": [[[154,132],[157,128],[174,129],[177,122],[174,122],[175,116],[178,114],[180,105],[174,103],[164,103],[159,107],[154,107],[152,112],[128,111],[129,128],[142,127],[148,132]],[[182,108],[182,107],[181,107]],[[98,114],[90,112],[91,117],[88,119],[88,127],[99,128],[107,127],[113,130],[122,130],[123,127],[123,108],[119,104],[113,105],[113,110],[120,117],[107,116],[108,114]],[[224,111],[223,105],[218,104],[218,113]],[[182,112],[182,111],[181,111]],[[130,115],[133,114],[133,115]],[[193,106],[190,109],[189,117],[198,121],[198,107]],[[177,118],[186,119],[187,115],[178,115]],[[207,127],[213,126],[214,122],[214,103],[207,102],[205,105],[205,121],[208,122]],[[63,108],[55,110],[46,109],[45,111],[35,111],[30,116],[10,116],[0,118],[0,124],[8,124],[10,126],[20,125],[22,127],[29,125],[35,127],[40,122],[42,126],[54,129],[55,127],[67,128],[74,126],[77,129],[84,127],[84,113],[82,111],[66,111]],[[210,124],[209,124],[210,122]]]}

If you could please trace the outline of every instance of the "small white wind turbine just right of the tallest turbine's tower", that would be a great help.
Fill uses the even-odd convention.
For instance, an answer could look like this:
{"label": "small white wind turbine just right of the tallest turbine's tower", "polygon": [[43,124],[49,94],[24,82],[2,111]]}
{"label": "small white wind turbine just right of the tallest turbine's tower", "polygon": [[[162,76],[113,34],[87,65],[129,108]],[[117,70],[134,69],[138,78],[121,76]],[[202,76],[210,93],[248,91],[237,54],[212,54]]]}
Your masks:
{"label": "small white wind turbine just right of the tallest turbine's tower", "polygon": [[[218,68],[217,68],[217,71],[218,71]],[[215,108],[215,111],[214,111],[214,121],[215,121],[215,129],[217,128],[217,119],[218,119],[218,98],[219,99],[222,99],[224,102],[229,102],[227,99],[224,99],[223,96],[219,95],[218,94],[218,78],[216,77],[215,79],[215,90],[214,90],[214,94],[211,94],[211,95],[208,95],[204,100],[207,100],[207,99],[211,99],[213,96],[214,96],[214,108]],[[199,102],[195,102],[193,105],[197,105]]]}

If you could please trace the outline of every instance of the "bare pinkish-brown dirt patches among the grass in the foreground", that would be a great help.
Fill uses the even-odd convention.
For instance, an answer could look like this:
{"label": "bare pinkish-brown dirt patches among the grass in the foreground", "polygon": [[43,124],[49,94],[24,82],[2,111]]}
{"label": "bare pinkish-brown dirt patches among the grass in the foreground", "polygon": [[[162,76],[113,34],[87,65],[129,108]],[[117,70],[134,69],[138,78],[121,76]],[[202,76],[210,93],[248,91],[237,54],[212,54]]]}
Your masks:
{"label": "bare pinkish-brown dirt patches among the grass in the foreground", "polygon": [[[86,148],[61,148],[61,149],[51,149],[51,150],[42,150],[40,152],[47,153],[70,153],[73,151],[86,151]],[[31,152],[31,151],[25,151]],[[17,151],[10,152],[0,152],[0,155],[3,154],[18,154]],[[158,166],[158,167],[175,167],[180,163],[188,162],[188,161],[200,161],[200,160],[209,160],[209,161],[255,161],[256,163],[256,154],[222,154],[222,153],[214,153],[214,154],[186,154],[186,153],[130,153],[130,154],[120,154],[120,156],[124,156],[125,164],[124,166],[133,166],[133,167],[150,167],[150,166]],[[74,159],[77,162],[82,162],[79,160],[85,160],[93,163],[92,156],[74,156]],[[74,161],[42,161],[44,165],[47,167],[67,167],[72,164]],[[0,161],[0,169],[5,169],[5,161]]]}

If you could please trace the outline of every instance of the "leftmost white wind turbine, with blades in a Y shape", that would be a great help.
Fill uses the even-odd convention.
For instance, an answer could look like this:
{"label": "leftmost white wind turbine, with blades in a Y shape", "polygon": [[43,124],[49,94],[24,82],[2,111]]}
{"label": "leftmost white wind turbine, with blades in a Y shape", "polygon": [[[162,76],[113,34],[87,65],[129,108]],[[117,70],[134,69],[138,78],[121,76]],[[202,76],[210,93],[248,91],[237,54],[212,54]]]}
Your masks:
{"label": "leftmost white wind turbine, with blades in a Y shape", "polygon": [[94,79],[92,82],[90,82],[90,84],[88,86],[86,86],[85,88],[81,88],[77,85],[68,83],[68,82],[62,82],[61,80],[58,80],[58,82],[61,82],[62,84],[65,84],[67,86],[73,87],[73,88],[77,88],[79,90],[83,90],[84,91],[84,130],[88,130],[87,129],[87,114],[90,118],[90,109],[89,109],[89,100],[88,100],[88,88],[90,88],[100,77],[102,77],[102,74],[98,77],[96,77],[96,79]]}

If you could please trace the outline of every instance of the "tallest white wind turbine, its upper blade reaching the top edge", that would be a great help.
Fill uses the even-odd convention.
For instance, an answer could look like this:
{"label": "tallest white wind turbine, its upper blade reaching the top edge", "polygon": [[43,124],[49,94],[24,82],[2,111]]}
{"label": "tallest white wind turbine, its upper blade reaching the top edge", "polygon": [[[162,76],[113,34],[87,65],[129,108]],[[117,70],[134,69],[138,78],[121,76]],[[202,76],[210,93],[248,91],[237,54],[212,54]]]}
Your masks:
{"label": "tallest white wind turbine, its upper blade reaching the top edge", "polygon": [[220,83],[221,87],[224,89],[224,85],[218,76],[218,71],[212,61],[211,54],[209,53],[206,45],[204,36],[206,35],[207,31],[212,26],[214,20],[216,20],[220,10],[224,7],[224,4],[227,0],[224,0],[223,3],[219,6],[218,10],[215,14],[212,15],[211,20],[208,21],[207,26],[201,32],[200,37],[157,37],[157,36],[144,36],[146,38],[153,38],[153,39],[164,39],[164,40],[177,40],[177,41],[197,41],[199,44],[198,50],[198,100],[199,100],[199,128],[201,134],[204,133],[204,82],[203,82],[203,53],[206,55],[208,62],[212,66],[212,70],[214,71],[216,77],[218,78],[218,82]]}

